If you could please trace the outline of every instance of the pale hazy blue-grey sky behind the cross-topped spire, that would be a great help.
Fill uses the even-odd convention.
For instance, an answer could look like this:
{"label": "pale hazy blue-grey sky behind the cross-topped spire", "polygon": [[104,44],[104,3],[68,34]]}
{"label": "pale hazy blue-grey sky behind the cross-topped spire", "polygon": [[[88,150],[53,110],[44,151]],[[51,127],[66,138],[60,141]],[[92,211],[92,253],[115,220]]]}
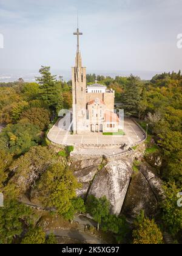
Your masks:
{"label": "pale hazy blue-grey sky behind the cross-topped spire", "polygon": [[69,70],[78,11],[87,69],[178,71],[181,10],[182,0],[0,0],[0,70]]}

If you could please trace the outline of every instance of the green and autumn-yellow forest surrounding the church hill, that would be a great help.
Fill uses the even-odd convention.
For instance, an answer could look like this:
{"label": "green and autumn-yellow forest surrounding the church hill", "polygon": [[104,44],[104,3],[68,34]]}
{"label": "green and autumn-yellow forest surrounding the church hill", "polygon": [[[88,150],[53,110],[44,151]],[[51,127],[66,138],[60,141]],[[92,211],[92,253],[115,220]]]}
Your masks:
{"label": "green and autumn-yellow forest surrounding the church hill", "polygon": [[[163,73],[151,80],[129,77],[104,77],[87,74],[87,84],[95,79],[115,90],[115,101],[125,115],[132,116],[147,129],[150,154],[162,159],[158,176],[163,180],[165,199],[158,206],[157,219],[141,212],[129,225],[125,216],[109,213],[109,201],[94,196],[84,201],[76,196],[79,182],[67,165],[72,147],[55,152],[46,135],[62,108],[72,107],[72,83],[42,66],[36,82],[19,79],[0,84],[0,244],[57,243],[47,235],[42,213],[28,207],[25,198],[49,209],[49,218],[58,216],[69,226],[77,213],[89,213],[103,236],[115,243],[164,243],[169,233],[174,243],[182,242],[182,207],[177,205],[182,192],[182,74]],[[48,218],[47,217],[47,218]]]}

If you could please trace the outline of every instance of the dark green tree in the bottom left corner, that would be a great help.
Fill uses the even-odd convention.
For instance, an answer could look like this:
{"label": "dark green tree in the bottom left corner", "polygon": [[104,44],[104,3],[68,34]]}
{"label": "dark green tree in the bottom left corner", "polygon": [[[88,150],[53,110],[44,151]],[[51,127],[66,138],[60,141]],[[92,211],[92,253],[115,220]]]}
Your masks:
{"label": "dark green tree in the bottom left corner", "polygon": [[5,200],[0,207],[0,243],[10,244],[15,236],[20,236],[24,225],[32,225],[30,207],[14,200]]}

